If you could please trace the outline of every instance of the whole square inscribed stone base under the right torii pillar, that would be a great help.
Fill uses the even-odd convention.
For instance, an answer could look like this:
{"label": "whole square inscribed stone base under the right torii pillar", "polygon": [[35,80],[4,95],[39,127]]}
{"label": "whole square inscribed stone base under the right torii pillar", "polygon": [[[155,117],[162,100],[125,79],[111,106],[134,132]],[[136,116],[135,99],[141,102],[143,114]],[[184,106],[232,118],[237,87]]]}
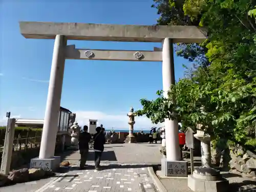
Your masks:
{"label": "whole square inscribed stone base under the right torii pillar", "polygon": [[187,177],[187,161],[161,159],[161,171],[165,177]]}

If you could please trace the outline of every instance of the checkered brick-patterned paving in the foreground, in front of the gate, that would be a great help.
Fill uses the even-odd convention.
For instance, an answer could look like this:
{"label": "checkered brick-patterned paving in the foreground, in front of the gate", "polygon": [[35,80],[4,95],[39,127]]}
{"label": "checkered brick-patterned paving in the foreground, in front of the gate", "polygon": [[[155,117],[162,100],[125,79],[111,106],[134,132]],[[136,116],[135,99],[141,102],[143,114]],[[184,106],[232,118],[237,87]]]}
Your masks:
{"label": "checkered brick-patterned paving in the foreground, in front of the gate", "polygon": [[[91,164],[86,170],[73,165],[48,186],[36,192],[157,192],[145,164],[102,164],[103,170],[95,170]],[[1,191],[2,192],[2,191]]]}

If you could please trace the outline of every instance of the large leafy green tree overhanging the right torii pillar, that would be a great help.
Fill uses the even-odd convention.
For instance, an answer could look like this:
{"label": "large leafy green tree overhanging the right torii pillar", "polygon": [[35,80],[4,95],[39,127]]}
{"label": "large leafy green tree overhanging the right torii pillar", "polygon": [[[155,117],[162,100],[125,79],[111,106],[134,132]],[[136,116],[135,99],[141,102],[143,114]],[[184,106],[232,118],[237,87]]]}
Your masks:
{"label": "large leafy green tree overhanging the right torii pillar", "polygon": [[[201,45],[178,45],[177,54],[198,67],[170,89],[168,98],[158,92],[156,100],[141,99],[143,109],[138,114],[153,122],[178,118],[184,125],[201,124],[211,135],[252,144],[254,140],[247,137],[252,135],[256,120],[256,2],[154,2],[160,14],[159,25],[203,26],[208,39]],[[170,99],[173,96],[176,103]]]}

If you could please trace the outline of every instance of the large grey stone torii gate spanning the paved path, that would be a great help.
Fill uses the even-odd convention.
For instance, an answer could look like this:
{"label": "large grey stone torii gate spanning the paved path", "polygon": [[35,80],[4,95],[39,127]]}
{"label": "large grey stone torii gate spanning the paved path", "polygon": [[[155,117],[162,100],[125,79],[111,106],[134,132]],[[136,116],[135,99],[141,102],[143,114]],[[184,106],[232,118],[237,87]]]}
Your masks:
{"label": "large grey stone torii gate spanning the paved path", "polygon": [[[164,96],[175,83],[173,43],[200,43],[206,39],[206,31],[195,26],[139,26],[82,23],[19,22],[25,38],[55,39],[44,128],[38,159],[31,162],[49,162],[51,169],[58,165],[54,157],[57,120],[61,99],[65,59],[162,61]],[[153,51],[83,50],[67,40],[139,41],[162,42],[161,49]],[[166,160],[181,160],[178,122],[165,119]]]}

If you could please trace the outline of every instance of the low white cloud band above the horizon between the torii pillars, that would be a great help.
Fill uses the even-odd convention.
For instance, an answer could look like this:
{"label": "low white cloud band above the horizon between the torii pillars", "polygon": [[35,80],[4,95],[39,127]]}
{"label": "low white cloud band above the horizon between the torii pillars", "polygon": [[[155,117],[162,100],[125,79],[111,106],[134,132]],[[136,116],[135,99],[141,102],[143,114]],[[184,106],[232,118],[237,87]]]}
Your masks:
{"label": "low white cloud band above the horizon between the torii pillars", "polygon": [[[79,125],[87,125],[89,119],[97,119],[98,124],[103,124],[106,129],[111,129],[112,127],[115,130],[129,128],[127,113],[106,114],[99,111],[75,111],[73,113],[76,113],[76,121]],[[149,130],[152,126],[162,126],[162,124],[152,124],[151,120],[146,117],[135,117],[135,130]]]}

